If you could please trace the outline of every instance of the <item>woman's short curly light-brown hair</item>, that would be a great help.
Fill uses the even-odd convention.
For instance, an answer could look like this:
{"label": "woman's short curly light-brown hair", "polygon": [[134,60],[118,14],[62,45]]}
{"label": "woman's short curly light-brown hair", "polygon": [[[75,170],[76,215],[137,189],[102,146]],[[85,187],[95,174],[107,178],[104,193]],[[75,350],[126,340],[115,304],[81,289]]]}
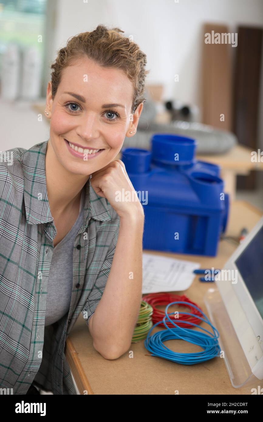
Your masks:
{"label": "woman's short curly light-brown hair", "polygon": [[138,44],[130,38],[120,35],[124,32],[119,28],[108,29],[105,25],[98,25],[92,32],[81,32],[68,38],[67,45],[57,51],[57,58],[51,65],[52,100],[62,77],[62,70],[83,56],[98,63],[102,67],[122,69],[133,83],[133,103],[131,113],[134,114],[140,103],[145,103],[145,77],[149,70],[145,70],[146,54]]}

